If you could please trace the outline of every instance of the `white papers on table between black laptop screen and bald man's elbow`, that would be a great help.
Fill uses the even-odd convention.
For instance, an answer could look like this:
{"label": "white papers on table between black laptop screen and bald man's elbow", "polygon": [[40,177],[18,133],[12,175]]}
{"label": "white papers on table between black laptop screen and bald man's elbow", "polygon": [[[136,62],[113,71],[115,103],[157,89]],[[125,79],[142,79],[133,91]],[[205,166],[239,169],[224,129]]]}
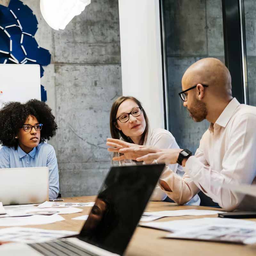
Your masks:
{"label": "white papers on table between black laptop screen and bald man's elbow", "polygon": [[144,212],[140,221],[153,221],[163,217],[186,216],[186,215],[200,216],[200,215],[211,215],[211,214],[218,214],[218,213],[222,213],[222,212],[214,211],[214,210],[196,210],[196,209]]}

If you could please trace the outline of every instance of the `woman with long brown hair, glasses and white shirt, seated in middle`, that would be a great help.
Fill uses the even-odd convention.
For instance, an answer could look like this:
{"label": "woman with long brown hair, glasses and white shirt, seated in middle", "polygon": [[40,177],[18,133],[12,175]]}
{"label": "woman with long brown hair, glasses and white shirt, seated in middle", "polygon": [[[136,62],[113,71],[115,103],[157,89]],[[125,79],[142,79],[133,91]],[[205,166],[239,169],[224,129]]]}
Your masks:
{"label": "woman with long brown hair, glasses and white shirt, seated in middle", "polygon": [[[108,139],[107,145],[111,147],[115,147],[120,142],[153,146],[159,149],[179,148],[171,132],[160,128],[150,129],[147,114],[140,101],[131,96],[121,96],[113,103],[110,111],[110,132],[112,139]],[[108,148],[108,151],[118,152],[118,149]],[[119,153],[114,153],[113,160],[118,160],[120,165],[143,164],[135,160],[125,159],[125,156],[120,156]],[[165,169],[168,168],[180,176],[184,174],[182,166],[178,164],[169,164]],[[151,200],[172,201],[158,185],[151,196]],[[194,196],[187,204],[199,205],[199,196]]]}

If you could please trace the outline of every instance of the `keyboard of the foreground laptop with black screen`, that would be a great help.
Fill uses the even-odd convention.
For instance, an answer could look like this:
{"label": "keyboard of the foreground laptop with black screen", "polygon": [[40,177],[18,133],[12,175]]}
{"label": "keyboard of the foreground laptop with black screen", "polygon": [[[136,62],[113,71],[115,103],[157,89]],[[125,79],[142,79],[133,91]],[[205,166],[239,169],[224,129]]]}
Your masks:
{"label": "keyboard of the foreground laptop with black screen", "polygon": [[96,254],[88,252],[84,248],[79,247],[76,244],[72,244],[67,240],[54,240],[53,242],[48,243],[28,245],[45,256],[96,256]]}

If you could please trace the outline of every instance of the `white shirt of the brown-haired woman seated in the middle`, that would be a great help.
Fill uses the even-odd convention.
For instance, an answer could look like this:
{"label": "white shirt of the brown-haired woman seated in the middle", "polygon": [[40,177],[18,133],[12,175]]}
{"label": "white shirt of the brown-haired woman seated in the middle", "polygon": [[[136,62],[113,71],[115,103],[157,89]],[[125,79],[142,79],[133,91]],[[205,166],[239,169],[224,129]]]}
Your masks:
{"label": "white shirt of the brown-haired woman seated in the middle", "polygon": [[[161,129],[161,128],[156,128],[156,129],[148,129],[148,134],[146,139],[144,140],[144,144],[146,146],[153,146],[159,149],[164,149],[164,148],[180,148],[173,137],[172,133]],[[120,165],[126,165],[126,164],[142,164],[141,162],[136,162],[133,160],[122,160],[119,161]],[[179,177],[182,177],[184,175],[184,170],[181,165],[179,164],[169,164],[164,168],[164,172],[172,170],[170,172],[177,173]],[[197,193],[196,193],[197,194]],[[198,195],[194,195],[194,197],[190,198],[186,203],[187,204],[193,204],[193,205],[200,205],[200,198]],[[163,191],[159,185],[156,186],[150,200],[152,201],[163,201],[167,197],[165,191]]]}

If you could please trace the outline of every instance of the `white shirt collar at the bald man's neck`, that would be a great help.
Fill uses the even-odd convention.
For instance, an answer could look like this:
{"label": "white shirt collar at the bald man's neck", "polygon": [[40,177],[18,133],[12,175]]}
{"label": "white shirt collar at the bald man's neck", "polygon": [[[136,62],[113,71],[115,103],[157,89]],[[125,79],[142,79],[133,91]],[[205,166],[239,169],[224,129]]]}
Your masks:
{"label": "white shirt collar at the bald man's neck", "polygon": [[226,127],[228,124],[228,121],[232,117],[233,113],[235,112],[236,108],[240,105],[238,100],[236,98],[233,98],[227,105],[226,108],[222,111],[218,119],[216,120],[215,124],[210,124],[209,130],[212,132],[213,128],[215,127],[216,124]]}

